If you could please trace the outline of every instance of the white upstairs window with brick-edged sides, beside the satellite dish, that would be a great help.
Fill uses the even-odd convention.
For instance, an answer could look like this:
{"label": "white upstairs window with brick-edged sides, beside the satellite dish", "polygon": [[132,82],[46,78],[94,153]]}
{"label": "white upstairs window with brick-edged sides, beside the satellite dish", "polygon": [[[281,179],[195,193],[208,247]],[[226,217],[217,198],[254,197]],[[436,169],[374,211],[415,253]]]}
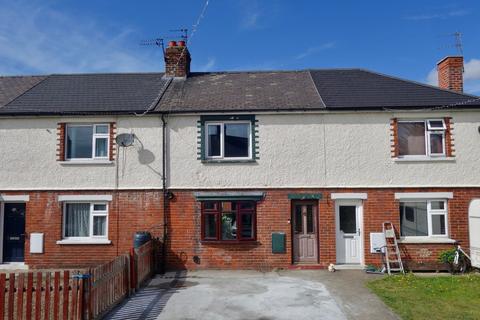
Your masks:
{"label": "white upstairs window with brick-edged sides, beside the satellite dish", "polygon": [[110,125],[67,124],[65,144],[67,160],[108,160]]}

